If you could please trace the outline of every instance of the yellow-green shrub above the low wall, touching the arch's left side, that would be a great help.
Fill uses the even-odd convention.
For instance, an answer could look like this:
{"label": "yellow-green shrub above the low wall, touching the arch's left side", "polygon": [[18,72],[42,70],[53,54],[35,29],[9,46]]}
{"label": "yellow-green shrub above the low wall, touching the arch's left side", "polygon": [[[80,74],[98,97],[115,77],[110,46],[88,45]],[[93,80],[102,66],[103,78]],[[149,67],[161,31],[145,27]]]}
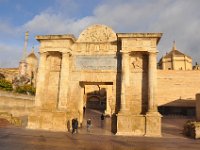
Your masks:
{"label": "yellow-green shrub above the low wall, touching the arch's left side", "polygon": [[17,93],[35,95],[35,88],[32,85],[23,85],[16,88]]}

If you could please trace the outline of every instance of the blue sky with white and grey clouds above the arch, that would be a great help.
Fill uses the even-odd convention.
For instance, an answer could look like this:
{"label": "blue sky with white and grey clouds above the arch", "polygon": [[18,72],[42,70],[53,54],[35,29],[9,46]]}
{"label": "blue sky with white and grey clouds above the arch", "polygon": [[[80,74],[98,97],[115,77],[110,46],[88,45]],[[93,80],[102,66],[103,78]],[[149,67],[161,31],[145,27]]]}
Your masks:
{"label": "blue sky with white and grey clouds above the arch", "polygon": [[24,34],[28,51],[43,34],[74,34],[98,23],[115,32],[163,32],[160,58],[173,41],[200,63],[200,0],[0,0],[0,67],[17,67]]}

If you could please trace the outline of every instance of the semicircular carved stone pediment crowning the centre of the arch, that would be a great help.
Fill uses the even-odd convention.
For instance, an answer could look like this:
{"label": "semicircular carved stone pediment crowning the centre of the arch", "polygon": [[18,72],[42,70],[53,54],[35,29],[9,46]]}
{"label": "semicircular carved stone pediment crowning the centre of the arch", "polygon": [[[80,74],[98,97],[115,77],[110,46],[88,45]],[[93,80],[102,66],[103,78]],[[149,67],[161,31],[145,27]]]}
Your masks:
{"label": "semicircular carved stone pediment crowning the centre of the arch", "polygon": [[78,42],[112,42],[116,41],[115,32],[104,25],[92,25],[79,36]]}

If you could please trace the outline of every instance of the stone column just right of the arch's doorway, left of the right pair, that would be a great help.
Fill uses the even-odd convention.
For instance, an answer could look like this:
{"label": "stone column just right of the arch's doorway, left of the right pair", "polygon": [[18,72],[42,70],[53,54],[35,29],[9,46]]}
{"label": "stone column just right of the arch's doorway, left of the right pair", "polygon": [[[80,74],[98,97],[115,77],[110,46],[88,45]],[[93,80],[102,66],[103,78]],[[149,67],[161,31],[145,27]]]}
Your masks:
{"label": "stone column just right of the arch's doorway, left of the right pair", "polygon": [[120,112],[127,110],[126,107],[126,87],[129,85],[129,53],[122,52],[121,70],[121,108]]}

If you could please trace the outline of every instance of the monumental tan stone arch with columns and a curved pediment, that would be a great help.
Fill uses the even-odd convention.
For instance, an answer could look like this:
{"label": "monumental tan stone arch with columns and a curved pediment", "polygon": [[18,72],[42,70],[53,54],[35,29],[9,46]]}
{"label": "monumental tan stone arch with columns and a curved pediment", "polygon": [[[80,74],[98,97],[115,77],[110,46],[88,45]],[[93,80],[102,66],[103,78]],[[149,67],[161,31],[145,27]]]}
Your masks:
{"label": "monumental tan stone arch with columns and a curved pediment", "polygon": [[[105,114],[118,135],[160,136],[157,112],[157,44],[162,33],[115,33],[92,25],[73,35],[36,36],[40,42],[35,110],[28,128],[67,130],[83,121],[91,91],[106,91]],[[114,127],[113,127],[114,128]]]}

